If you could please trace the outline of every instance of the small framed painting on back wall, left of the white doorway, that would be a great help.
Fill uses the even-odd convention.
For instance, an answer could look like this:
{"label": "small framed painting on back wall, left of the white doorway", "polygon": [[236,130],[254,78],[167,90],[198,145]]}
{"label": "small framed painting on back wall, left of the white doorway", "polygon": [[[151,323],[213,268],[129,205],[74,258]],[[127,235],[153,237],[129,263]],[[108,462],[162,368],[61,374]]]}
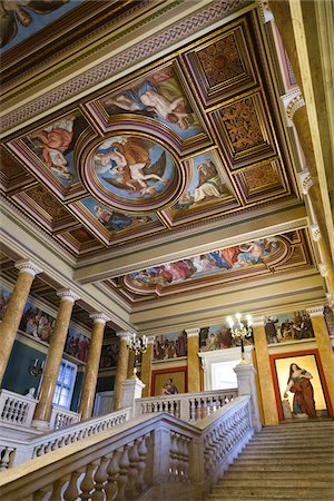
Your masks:
{"label": "small framed painting on back wall, left of the white doorway", "polygon": [[187,393],[187,367],[153,371],[151,396]]}

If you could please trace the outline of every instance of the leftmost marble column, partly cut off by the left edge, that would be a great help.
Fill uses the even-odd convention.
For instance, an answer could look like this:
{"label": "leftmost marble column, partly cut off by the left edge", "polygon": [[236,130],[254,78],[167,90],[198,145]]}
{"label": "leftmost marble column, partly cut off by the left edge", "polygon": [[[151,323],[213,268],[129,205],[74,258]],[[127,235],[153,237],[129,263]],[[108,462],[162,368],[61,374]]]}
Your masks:
{"label": "leftmost marble column, partly cut off by the left edge", "polygon": [[19,261],[14,266],[19,269],[19,275],[0,324],[0,385],[21,322],[31,284],[35,276],[42,272],[41,268],[36,266],[31,261]]}

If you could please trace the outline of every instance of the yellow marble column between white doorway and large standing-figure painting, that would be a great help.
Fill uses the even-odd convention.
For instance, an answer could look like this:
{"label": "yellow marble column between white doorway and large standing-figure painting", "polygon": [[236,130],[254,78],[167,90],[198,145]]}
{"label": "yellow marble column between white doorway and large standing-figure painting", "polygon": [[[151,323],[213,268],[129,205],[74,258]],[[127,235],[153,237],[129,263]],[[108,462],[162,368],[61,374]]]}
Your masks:
{"label": "yellow marble column between white doorway and large standing-figure painting", "polygon": [[253,335],[264,424],[278,424],[278,412],[263,317],[253,318]]}

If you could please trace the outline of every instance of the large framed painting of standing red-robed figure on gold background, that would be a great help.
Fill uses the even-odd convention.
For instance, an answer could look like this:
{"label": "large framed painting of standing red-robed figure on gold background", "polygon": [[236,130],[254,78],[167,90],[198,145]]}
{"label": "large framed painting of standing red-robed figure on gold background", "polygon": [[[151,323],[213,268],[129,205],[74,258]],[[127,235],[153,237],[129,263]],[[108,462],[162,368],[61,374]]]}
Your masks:
{"label": "large framed painting of standing red-robed figure on gold background", "polygon": [[333,416],[317,350],[269,355],[269,360],[281,421]]}

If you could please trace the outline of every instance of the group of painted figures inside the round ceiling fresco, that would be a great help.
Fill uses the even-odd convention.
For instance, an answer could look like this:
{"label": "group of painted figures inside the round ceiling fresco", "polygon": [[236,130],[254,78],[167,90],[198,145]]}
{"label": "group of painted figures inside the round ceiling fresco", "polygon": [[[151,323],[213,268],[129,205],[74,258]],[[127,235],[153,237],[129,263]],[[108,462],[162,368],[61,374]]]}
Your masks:
{"label": "group of painted figures inside the round ceiling fresco", "polygon": [[[107,183],[116,187],[128,187],[132,193],[140,193],[141,196],[156,194],[156,187],[148,185],[147,181],[164,185],[168,183],[168,179],[161,178],[166,166],[166,154],[163,153],[160,158],[151,165],[149,150],[140,138],[119,137],[112,141],[109,148],[99,149],[95,160],[98,160],[105,168],[110,165],[108,167],[110,173],[116,173],[116,178],[105,177]],[[97,168],[99,169],[99,166]]]}

